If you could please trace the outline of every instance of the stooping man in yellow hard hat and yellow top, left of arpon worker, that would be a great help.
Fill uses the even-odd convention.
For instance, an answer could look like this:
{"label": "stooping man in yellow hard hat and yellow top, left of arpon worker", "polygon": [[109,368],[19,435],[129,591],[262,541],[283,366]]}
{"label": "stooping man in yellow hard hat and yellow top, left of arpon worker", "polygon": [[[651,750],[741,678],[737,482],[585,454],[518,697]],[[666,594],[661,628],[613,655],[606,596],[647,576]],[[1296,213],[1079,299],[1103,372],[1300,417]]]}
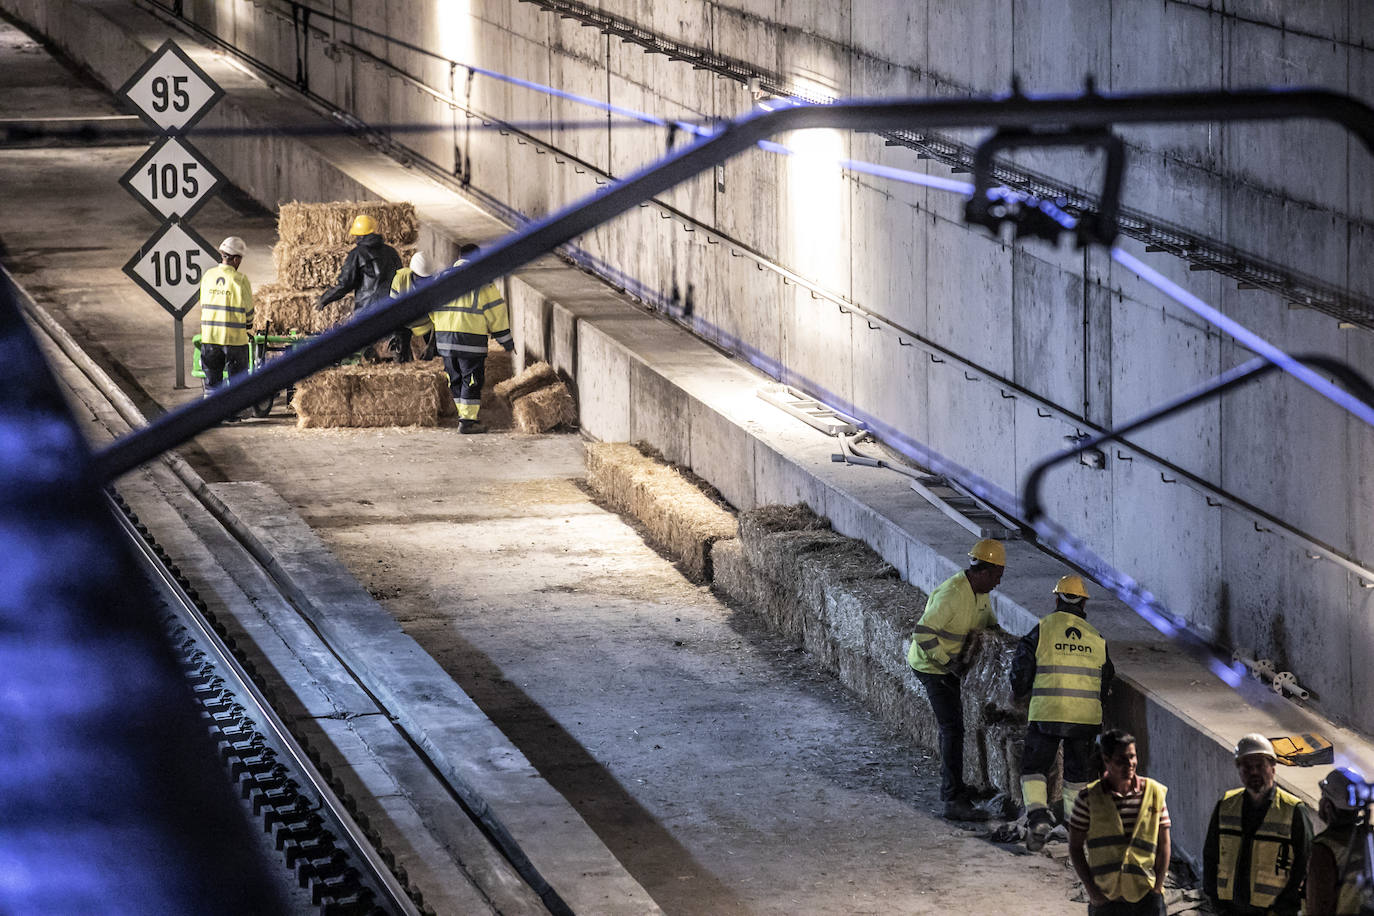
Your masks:
{"label": "stooping man in yellow hard hat and yellow top, left of arpon worker", "polygon": [[911,637],[907,663],[926,691],[940,726],[940,799],[949,820],[987,820],[963,781],[963,705],[960,677],[969,666],[969,634],[993,625],[988,595],[1007,566],[1000,541],[984,538],[969,551],[969,567],[941,582]]}

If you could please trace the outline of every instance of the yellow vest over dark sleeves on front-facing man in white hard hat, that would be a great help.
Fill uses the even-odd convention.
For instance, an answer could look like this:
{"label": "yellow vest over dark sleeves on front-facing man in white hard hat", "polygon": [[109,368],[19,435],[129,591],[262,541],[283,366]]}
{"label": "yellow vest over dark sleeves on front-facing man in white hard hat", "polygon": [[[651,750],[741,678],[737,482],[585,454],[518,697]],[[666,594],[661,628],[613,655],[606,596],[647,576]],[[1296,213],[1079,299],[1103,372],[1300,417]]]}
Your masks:
{"label": "yellow vest over dark sleeves on front-facing man in white hard hat", "polygon": [[[1232,788],[1221,797],[1221,808],[1216,814],[1217,867],[1216,895],[1220,900],[1235,897],[1235,864],[1241,858],[1243,831],[1241,808],[1245,803],[1245,790]],[[1274,787],[1270,810],[1250,839],[1250,906],[1260,909],[1272,904],[1287,886],[1293,867],[1293,810],[1303,803],[1297,795]]]}

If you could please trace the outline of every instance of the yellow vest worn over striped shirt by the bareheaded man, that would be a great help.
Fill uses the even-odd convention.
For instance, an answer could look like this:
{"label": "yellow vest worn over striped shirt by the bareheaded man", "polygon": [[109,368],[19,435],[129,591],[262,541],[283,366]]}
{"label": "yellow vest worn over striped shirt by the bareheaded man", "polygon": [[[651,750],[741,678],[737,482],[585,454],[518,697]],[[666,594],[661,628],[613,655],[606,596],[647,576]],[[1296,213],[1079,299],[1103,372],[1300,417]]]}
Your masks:
{"label": "yellow vest worn over striped shirt by the bareheaded man", "polygon": [[1109,900],[1136,904],[1154,889],[1154,850],[1160,840],[1160,814],[1168,788],[1153,779],[1145,783],[1140,816],[1129,836],[1121,825],[1121,813],[1107,787],[1098,780],[1083,790],[1080,798],[1088,802],[1088,838],[1084,853],[1092,883]]}

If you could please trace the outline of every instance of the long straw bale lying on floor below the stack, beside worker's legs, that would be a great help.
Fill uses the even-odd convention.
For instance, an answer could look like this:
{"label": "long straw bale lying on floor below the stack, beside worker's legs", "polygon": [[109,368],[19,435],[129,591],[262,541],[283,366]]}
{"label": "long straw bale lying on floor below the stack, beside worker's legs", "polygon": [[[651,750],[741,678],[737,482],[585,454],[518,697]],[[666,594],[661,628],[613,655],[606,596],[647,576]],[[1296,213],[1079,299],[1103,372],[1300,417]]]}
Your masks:
{"label": "long straw bale lying on floor below the stack, beside worker's legs", "polygon": [[436,372],[433,363],[324,369],[297,385],[291,398],[295,424],[300,428],[438,426],[448,398],[438,397]]}

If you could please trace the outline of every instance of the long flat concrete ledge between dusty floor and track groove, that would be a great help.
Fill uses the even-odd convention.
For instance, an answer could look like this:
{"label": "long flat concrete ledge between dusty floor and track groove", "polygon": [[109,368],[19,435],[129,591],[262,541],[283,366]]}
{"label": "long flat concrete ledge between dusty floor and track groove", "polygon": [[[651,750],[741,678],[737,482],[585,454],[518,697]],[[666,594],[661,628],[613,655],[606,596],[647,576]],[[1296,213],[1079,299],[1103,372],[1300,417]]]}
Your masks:
{"label": "long flat concrete ledge between dusty floor and track groove", "polygon": [[658,906],[567,801],[264,483],[210,488],[227,523],[429,754],[489,832],[506,834],[573,912]]}

